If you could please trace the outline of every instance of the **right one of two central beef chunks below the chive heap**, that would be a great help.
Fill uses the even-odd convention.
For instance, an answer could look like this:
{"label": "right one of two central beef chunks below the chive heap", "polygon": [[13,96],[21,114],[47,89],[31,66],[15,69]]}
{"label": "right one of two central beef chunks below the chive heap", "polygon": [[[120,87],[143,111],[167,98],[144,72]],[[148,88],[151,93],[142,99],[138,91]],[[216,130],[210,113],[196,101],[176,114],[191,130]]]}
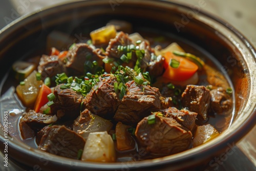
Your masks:
{"label": "right one of two central beef chunks below the chive heap", "polygon": [[138,85],[135,81],[125,84],[126,94],[118,105],[114,119],[126,124],[137,124],[151,111],[161,108],[159,89]]}

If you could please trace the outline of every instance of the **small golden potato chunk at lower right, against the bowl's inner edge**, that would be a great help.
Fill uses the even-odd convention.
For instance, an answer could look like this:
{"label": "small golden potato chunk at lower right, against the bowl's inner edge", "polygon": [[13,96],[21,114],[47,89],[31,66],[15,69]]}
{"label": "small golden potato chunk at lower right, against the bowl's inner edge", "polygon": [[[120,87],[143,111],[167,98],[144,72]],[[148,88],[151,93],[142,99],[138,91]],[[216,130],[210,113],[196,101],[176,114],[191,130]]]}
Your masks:
{"label": "small golden potato chunk at lower right, against the bowl's inner edge", "polygon": [[219,132],[210,124],[198,126],[193,139],[193,146],[199,146],[218,137],[219,135]]}

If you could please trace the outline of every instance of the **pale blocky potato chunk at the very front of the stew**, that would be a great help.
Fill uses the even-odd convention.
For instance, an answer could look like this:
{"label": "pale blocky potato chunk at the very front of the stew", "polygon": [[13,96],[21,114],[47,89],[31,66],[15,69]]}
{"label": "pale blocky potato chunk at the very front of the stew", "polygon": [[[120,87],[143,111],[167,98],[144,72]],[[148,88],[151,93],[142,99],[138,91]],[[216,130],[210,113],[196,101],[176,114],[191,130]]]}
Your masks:
{"label": "pale blocky potato chunk at the very front of the stew", "polygon": [[115,145],[111,136],[106,131],[90,133],[83,148],[82,160],[115,162]]}

